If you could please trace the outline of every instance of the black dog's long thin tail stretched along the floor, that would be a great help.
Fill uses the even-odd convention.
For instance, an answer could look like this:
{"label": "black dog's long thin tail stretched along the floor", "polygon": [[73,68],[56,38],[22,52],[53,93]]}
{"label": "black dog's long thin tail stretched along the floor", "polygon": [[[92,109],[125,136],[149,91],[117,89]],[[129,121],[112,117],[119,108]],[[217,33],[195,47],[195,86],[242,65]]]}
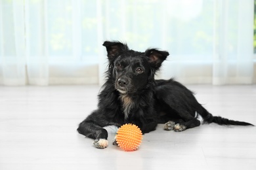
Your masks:
{"label": "black dog's long thin tail stretched along the floor", "polygon": [[219,125],[238,125],[238,126],[254,126],[253,124],[247,122],[240,122],[236,120],[229,120],[227,118],[222,118],[221,116],[213,116],[201,105],[201,109],[197,111],[203,118],[203,124],[216,123]]}

